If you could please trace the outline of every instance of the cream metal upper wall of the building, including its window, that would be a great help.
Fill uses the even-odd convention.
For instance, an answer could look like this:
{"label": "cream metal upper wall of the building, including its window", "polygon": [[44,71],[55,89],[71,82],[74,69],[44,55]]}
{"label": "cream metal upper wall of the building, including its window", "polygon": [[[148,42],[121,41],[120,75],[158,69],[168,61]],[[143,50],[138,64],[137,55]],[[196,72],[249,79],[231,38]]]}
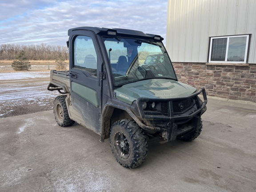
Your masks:
{"label": "cream metal upper wall of the building, including its window", "polygon": [[173,62],[256,64],[256,0],[168,0]]}

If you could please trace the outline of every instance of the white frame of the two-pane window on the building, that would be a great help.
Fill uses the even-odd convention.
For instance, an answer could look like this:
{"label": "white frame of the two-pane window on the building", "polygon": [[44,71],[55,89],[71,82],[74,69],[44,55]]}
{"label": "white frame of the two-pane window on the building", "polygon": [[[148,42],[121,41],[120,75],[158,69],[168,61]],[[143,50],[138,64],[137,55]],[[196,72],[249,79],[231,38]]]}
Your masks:
{"label": "white frame of the two-pane window on the building", "polygon": [[[233,35],[233,36],[217,36],[217,37],[210,37],[210,50],[209,50],[209,63],[246,63],[247,62],[247,56],[248,56],[248,45],[249,45],[249,36],[250,35]],[[244,61],[228,61],[228,45],[229,45],[229,38],[230,37],[246,37],[246,47],[244,52]],[[212,57],[212,40],[213,39],[223,39],[227,38],[227,47],[226,47],[226,55],[225,55],[225,61],[214,61],[211,60]]]}

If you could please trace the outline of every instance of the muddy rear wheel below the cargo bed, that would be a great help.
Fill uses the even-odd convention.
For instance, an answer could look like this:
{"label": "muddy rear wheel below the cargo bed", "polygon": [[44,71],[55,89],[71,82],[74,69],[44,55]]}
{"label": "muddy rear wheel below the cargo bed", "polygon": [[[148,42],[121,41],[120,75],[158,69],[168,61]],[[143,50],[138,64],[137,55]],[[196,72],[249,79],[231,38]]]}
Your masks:
{"label": "muddy rear wheel below the cargo bed", "polygon": [[66,104],[66,95],[57,96],[53,101],[53,113],[57,124],[61,127],[68,127],[75,123],[68,115],[68,108]]}

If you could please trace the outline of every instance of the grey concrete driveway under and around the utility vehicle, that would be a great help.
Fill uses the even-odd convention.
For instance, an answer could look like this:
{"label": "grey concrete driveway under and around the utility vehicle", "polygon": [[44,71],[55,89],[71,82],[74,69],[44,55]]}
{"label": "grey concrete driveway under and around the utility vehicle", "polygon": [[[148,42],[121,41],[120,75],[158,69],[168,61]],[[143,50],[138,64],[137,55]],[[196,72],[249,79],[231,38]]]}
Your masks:
{"label": "grey concrete driveway under and around the utility vehicle", "polygon": [[126,169],[109,140],[53,112],[0,119],[0,192],[255,192],[256,105],[209,98],[192,142],[148,144],[140,168]]}

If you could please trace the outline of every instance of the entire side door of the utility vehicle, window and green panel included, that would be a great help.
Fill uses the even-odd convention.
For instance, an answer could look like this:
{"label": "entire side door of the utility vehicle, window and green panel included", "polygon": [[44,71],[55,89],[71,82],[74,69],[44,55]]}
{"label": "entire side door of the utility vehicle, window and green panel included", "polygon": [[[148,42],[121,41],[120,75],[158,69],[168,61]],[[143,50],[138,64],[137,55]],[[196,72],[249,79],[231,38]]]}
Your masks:
{"label": "entire side door of the utility vehicle, window and green panel included", "polygon": [[95,35],[92,32],[77,31],[69,40],[71,68],[72,118],[94,132],[100,132],[101,88],[99,72],[102,65]]}

